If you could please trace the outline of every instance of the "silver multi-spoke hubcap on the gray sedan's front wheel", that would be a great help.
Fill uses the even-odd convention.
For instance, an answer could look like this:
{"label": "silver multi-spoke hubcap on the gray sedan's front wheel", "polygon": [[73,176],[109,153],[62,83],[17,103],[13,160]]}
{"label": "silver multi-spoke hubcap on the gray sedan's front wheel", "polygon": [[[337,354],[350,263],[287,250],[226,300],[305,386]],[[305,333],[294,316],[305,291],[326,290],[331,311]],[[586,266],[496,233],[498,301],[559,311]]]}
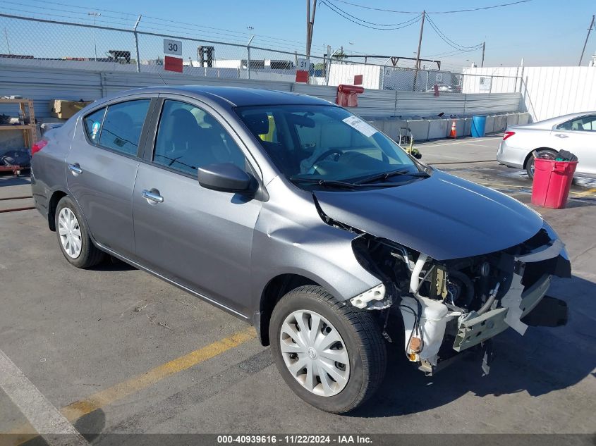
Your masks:
{"label": "silver multi-spoke hubcap on the gray sedan's front wheel", "polygon": [[332,397],[346,387],[350,377],[346,344],[323,316],[294,311],[284,320],[279,341],[288,370],[304,388]]}

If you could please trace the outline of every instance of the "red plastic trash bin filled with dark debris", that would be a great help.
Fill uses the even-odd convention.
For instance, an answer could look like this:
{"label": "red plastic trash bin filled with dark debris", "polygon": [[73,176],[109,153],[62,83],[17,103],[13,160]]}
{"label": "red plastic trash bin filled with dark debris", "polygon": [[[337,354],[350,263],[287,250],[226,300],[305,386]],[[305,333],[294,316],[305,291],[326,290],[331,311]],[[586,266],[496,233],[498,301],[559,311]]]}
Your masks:
{"label": "red plastic trash bin filled with dark debris", "polygon": [[578,161],[535,159],[532,204],[552,209],[564,208],[577,165]]}

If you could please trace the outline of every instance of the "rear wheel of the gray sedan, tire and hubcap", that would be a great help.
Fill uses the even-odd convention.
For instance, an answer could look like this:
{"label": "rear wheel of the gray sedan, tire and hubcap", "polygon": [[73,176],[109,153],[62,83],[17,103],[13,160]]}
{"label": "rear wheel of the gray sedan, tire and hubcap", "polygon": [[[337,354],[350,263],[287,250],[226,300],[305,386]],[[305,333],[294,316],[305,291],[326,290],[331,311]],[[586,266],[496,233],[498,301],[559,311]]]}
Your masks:
{"label": "rear wheel of the gray sedan, tire and hubcap", "polygon": [[58,244],[68,263],[91,268],[104,259],[104,252],[93,244],[85,220],[71,197],[62,197],[54,213]]}

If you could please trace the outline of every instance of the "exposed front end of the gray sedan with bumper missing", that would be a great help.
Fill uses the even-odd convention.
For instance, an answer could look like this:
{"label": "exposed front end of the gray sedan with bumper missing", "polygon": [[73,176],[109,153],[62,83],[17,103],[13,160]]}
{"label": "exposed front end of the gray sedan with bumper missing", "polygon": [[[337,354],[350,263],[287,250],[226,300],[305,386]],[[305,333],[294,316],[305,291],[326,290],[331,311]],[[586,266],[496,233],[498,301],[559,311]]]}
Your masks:
{"label": "exposed front end of the gray sedan with bumper missing", "polygon": [[[509,327],[523,335],[528,326],[522,319],[545,297],[552,275],[571,277],[564,244],[547,225],[521,244],[464,259],[437,261],[367,233],[358,234],[352,247],[382,284],[351,303],[378,310],[385,328],[401,315],[406,356],[430,374],[471,347],[484,349],[482,370],[488,373],[491,338]],[[552,316],[566,319],[566,306],[561,311]]]}

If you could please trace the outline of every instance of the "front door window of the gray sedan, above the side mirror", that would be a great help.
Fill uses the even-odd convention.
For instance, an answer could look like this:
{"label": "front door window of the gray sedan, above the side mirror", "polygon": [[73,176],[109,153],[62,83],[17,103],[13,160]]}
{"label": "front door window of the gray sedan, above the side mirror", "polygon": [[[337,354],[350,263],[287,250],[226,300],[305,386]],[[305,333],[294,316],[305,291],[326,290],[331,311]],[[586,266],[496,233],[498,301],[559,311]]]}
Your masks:
{"label": "front door window of the gray sedan, above the side mirror", "polygon": [[153,161],[190,175],[213,163],[245,168],[241,149],[221,124],[206,111],[180,101],[164,102]]}

